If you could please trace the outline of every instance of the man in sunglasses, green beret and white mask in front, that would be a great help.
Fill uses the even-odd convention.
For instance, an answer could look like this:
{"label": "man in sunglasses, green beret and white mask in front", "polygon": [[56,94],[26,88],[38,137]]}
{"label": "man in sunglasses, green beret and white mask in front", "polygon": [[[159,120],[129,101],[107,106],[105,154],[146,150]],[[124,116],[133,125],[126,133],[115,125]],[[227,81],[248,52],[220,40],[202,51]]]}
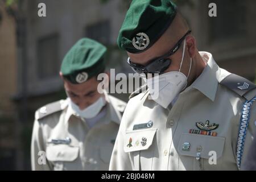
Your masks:
{"label": "man in sunglasses, green beret and white mask in front", "polygon": [[131,94],[110,170],[240,169],[256,129],[256,86],[199,52],[170,0],[132,1],[117,43],[147,84]]}

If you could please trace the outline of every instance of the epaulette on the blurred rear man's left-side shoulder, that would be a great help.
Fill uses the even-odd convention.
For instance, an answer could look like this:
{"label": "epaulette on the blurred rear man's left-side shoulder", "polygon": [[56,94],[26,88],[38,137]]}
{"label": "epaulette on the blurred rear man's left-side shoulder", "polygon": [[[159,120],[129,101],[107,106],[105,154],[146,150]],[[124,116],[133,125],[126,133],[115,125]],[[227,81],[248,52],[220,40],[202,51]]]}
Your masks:
{"label": "epaulette on the blurred rear man's left-side shoulder", "polygon": [[50,104],[47,104],[46,106],[41,107],[36,111],[36,119],[42,119],[44,117],[47,117],[48,115],[51,115],[53,113],[56,113],[58,111],[61,111],[65,109],[65,106],[67,106],[67,101],[60,100],[56,102],[52,102]]}

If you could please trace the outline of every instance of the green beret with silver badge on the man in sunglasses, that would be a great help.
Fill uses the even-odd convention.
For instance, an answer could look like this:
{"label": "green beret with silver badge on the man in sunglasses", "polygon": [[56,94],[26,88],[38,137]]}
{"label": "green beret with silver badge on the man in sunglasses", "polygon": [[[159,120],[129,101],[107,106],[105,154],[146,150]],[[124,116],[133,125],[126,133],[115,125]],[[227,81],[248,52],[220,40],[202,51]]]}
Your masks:
{"label": "green beret with silver badge on the man in sunglasses", "polygon": [[119,31],[118,47],[131,53],[146,51],[164,34],[176,13],[170,0],[133,0]]}

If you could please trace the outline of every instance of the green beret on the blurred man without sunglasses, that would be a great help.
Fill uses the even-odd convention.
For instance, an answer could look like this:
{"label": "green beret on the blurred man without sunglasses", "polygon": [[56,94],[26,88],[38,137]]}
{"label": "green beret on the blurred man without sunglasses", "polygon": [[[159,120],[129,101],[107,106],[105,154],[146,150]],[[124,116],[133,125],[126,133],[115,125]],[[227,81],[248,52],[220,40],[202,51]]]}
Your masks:
{"label": "green beret on the blurred man without sunglasses", "polygon": [[106,47],[95,40],[80,39],[65,55],[60,72],[73,84],[81,84],[104,72]]}

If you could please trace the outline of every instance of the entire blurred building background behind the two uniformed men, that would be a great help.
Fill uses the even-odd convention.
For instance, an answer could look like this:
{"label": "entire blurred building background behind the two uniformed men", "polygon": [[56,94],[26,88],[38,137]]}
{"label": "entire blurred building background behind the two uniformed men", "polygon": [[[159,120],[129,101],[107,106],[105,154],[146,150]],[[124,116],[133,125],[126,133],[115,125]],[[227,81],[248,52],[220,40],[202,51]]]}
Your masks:
{"label": "entire blurred building background behind the two uniformed men", "polygon": [[[0,169],[29,170],[35,110],[65,98],[61,60],[87,36],[108,47],[108,69],[133,73],[116,39],[127,0],[0,0]],[[38,16],[46,4],[47,17]],[[251,81],[256,71],[256,1],[176,0],[191,25],[200,51],[220,67]],[[217,17],[208,5],[217,5]],[[150,17],[148,17],[150,18]],[[115,94],[128,100],[129,94]]]}

